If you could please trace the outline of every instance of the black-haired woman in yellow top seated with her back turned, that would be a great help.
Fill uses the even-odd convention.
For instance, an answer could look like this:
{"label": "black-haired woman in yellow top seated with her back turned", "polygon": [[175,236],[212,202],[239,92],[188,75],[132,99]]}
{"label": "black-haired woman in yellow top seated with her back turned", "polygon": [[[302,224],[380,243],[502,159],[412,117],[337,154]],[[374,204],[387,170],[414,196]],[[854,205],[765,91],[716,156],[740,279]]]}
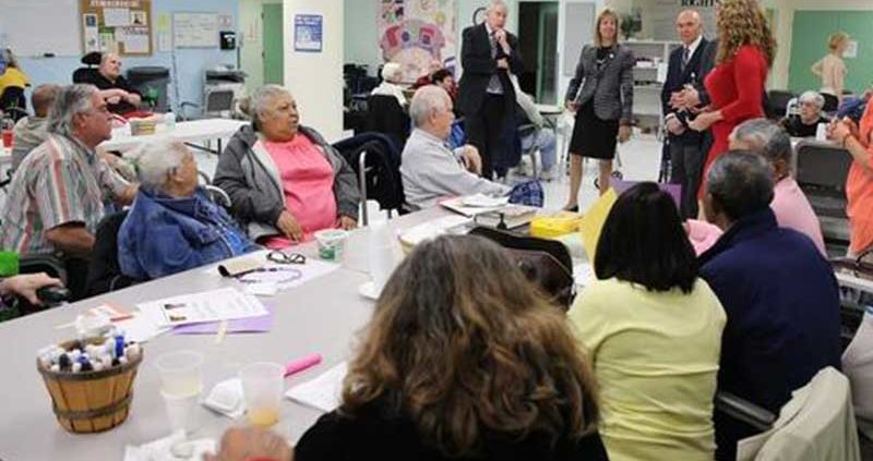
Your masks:
{"label": "black-haired woman in yellow top seated with her back turned", "polygon": [[594,359],[609,459],[711,461],[726,316],[673,201],[655,183],[625,192],[596,255],[569,318]]}

